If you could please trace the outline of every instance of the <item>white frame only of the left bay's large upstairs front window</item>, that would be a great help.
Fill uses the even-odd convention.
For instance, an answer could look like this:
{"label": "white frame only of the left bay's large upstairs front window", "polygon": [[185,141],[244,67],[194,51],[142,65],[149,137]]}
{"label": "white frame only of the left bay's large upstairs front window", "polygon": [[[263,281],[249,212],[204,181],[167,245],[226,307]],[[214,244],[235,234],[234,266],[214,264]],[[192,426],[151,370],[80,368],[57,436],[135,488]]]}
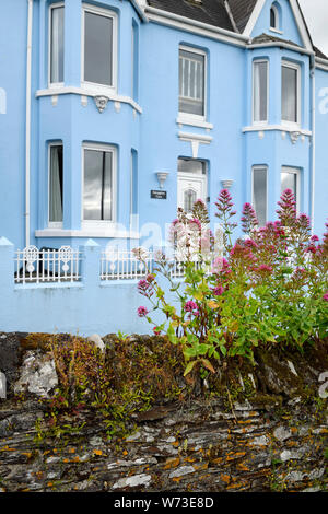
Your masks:
{"label": "white frame only of the left bay's large upstairs front window", "polygon": [[[113,20],[113,85],[97,84],[96,82],[87,82],[84,80],[84,54],[85,54],[85,12],[91,12],[92,14],[97,14],[105,17],[110,17]],[[82,3],[82,32],[81,32],[81,87],[87,90],[94,90],[95,92],[109,94],[117,92],[117,60],[118,60],[118,16],[115,11],[109,9],[98,8],[96,5],[91,5],[89,3]]]}

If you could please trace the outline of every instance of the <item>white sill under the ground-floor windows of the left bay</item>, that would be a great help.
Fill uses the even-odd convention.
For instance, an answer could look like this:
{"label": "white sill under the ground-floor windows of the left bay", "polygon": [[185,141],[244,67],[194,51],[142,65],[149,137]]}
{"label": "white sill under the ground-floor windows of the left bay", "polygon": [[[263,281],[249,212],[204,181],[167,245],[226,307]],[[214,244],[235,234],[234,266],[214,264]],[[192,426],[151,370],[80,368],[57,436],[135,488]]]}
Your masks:
{"label": "white sill under the ground-floor windows of the left bay", "polygon": [[139,232],[117,230],[115,227],[103,229],[83,229],[83,230],[66,230],[66,229],[45,229],[35,231],[35,237],[102,237],[102,238],[127,238],[139,240]]}

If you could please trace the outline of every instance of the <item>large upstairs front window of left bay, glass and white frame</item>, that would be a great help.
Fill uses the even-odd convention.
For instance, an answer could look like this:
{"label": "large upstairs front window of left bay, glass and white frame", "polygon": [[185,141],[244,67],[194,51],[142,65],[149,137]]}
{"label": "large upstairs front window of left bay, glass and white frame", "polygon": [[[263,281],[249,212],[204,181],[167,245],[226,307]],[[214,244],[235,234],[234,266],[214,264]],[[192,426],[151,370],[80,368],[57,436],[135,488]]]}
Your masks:
{"label": "large upstairs front window of left bay, glass and white frame", "polygon": [[116,14],[83,7],[82,81],[106,87],[116,84]]}

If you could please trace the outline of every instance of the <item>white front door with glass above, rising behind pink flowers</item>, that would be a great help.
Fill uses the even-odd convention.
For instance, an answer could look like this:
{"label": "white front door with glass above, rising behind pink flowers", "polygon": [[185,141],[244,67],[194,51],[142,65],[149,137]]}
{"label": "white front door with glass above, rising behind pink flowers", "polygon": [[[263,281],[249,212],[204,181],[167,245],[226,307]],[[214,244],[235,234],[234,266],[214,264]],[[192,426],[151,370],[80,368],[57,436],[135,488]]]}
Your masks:
{"label": "white front door with glass above, rising behind pink flowers", "polygon": [[204,163],[179,160],[177,179],[177,207],[191,212],[196,200],[207,201],[207,176]]}

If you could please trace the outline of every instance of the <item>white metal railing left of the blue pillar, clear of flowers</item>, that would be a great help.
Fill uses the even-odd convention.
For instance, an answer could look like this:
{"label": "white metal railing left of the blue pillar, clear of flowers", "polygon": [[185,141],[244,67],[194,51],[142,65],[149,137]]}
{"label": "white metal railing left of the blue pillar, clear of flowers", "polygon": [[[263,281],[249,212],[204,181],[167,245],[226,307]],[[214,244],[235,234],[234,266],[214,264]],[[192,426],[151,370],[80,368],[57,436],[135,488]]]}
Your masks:
{"label": "white metal railing left of the blue pillar, clear of flowers", "polygon": [[81,253],[70,246],[38,249],[27,246],[15,253],[14,281],[17,284],[75,282],[81,280]]}

